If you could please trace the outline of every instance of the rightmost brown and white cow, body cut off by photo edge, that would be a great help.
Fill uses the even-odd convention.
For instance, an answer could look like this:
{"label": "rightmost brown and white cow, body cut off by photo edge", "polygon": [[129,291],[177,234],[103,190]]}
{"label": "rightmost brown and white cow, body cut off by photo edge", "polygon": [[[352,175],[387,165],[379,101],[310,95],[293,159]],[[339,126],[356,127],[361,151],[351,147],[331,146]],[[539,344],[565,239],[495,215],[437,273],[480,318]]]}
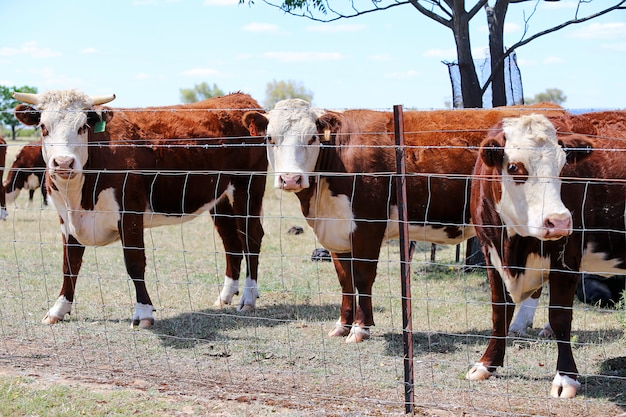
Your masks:
{"label": "rightmost brown and white cow, body cut off by photo edge", "polygon": [[471,211],[487,258],[493,329],[469,379],[486,379],[503,365],[512,303],[547,281],[558,347],[550,393],[576,395],[570,333],[580,271],[626,271],[625,151],[623,141],[598,137],[560,134],[557,141],[554,125],[542,116],[506,119],[483,142]]}

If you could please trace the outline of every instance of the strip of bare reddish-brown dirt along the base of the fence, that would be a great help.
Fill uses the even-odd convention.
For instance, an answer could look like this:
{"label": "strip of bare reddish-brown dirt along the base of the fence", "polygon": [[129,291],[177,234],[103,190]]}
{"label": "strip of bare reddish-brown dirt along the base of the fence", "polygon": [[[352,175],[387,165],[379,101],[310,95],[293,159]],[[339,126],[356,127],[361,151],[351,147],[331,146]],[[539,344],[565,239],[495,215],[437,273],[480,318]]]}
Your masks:
{"label": "strip of bare reddish-brown dirt along the base of the fence", "polygon": [[[193,403],[181,405],[172,415],[192,416],[391,416],[404,415],[404,405],[397,395],[385,398],[385,393],[363,386],[346,385],[338,395],[327,387],[319,387],[306,379],[293,376],[271,378],[260,373],[244,374],[241,369],[214,373],[210,379],[199,380],[190,376],[184,366],[170,364],[164,374],[143,367],[118,368],[111,366],[111,358],[92,357],[89,364],[67,366],[58,357],[68,352],[53,352],[41,346],[33,349],[28,342],[5,339],[0,345],[0,378],[8,376],[28,377],[34,387],[45,389],[53,384],[80,386],[90,391],[129,390],[146,393],[155,399],[169,403]],[[7,349],[10,352],[7,352]],[[39,352],[39,353],[36,353]],[[66,358],[67,359],[67,358]],[[62,362],[65,362],[63,364]],[[78,361],[80,362],[80,361]],[[96,363],[99,363],[97,365]],[[109,363],[109,365],[102,365]],[[499,388],[498,388],[499,389]],[[396,393],[397,394],[397,393]],[[479,417],[479,416],[568,416],[568,417],[626,417],[622,407],[605,403],[592,404],[578,397],[573,400],[546,398],[539,401],[528,398],[527,412],[505,411],[500,397],[468,393],[453,399],[454,405],[433,403],[437,397],[416,392],[414,415],[432,417]],[[423,401],[425,400],[425,401]],[[436,401],[436,400],[435,400]],[[517,401],[512,398],[511,401]],[[509,404],[512,407],[513,404]],[[198,412],[198,409],[202,410]]]}

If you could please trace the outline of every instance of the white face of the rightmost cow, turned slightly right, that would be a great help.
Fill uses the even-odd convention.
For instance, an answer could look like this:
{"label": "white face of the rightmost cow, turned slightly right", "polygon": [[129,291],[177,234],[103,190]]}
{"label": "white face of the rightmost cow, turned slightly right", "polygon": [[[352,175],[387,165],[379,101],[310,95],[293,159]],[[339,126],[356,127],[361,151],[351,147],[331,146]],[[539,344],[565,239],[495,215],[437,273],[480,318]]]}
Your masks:
{"label": "white face of the rightmost cow, turned slightly right", "polygon": [[[561,200],[559,179],[566,154],[550,121],[541,115],[504,119],[500,138],[492,140],[483,142],[481,157],[501,169],[496,209],[509,235],[556,240],[571,234],[572,216]],[[489,146],[499,150],[492,153]]]}

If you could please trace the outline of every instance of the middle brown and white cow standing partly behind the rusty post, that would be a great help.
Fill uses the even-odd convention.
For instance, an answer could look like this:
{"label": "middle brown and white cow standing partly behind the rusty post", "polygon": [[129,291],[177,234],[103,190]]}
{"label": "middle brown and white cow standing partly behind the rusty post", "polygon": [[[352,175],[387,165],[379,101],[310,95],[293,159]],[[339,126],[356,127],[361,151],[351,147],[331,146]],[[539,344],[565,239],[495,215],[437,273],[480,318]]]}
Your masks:
{"label": "middle brown and white cow standing partly behind the rusty post", "polygon": [[[476,149],[493,124],[527,112],[404,113],[411,240],[456,244],[474,236],[468,195]],[[296,194],[317,239],[331,252],[342,303],[329,335],[348,335],[348,342],[368,338],[380,248],[399,229],[393,114],[325,111],[291,99],[267,114],[246,113],[244,123],[253,135],[266,135],[275,187]]]}

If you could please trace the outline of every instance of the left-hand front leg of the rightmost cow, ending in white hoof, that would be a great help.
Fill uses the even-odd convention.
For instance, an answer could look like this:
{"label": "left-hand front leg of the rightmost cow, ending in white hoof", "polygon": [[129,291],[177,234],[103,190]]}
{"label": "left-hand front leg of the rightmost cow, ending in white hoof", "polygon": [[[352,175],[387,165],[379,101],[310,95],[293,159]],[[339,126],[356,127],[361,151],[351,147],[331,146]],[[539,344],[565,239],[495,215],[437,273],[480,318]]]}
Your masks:
{"label": "left-hand front leg of the rightmost cow, ending in white hoof", "polygon": [[491,337],[480,361],[476,362],[465,376],[471,381],[489,378],[498,366],[504,364],[507,330],[515,311],[515,304],[506,292],[502,277],[490,264],[487,256],[487,275],[491,287]]}

